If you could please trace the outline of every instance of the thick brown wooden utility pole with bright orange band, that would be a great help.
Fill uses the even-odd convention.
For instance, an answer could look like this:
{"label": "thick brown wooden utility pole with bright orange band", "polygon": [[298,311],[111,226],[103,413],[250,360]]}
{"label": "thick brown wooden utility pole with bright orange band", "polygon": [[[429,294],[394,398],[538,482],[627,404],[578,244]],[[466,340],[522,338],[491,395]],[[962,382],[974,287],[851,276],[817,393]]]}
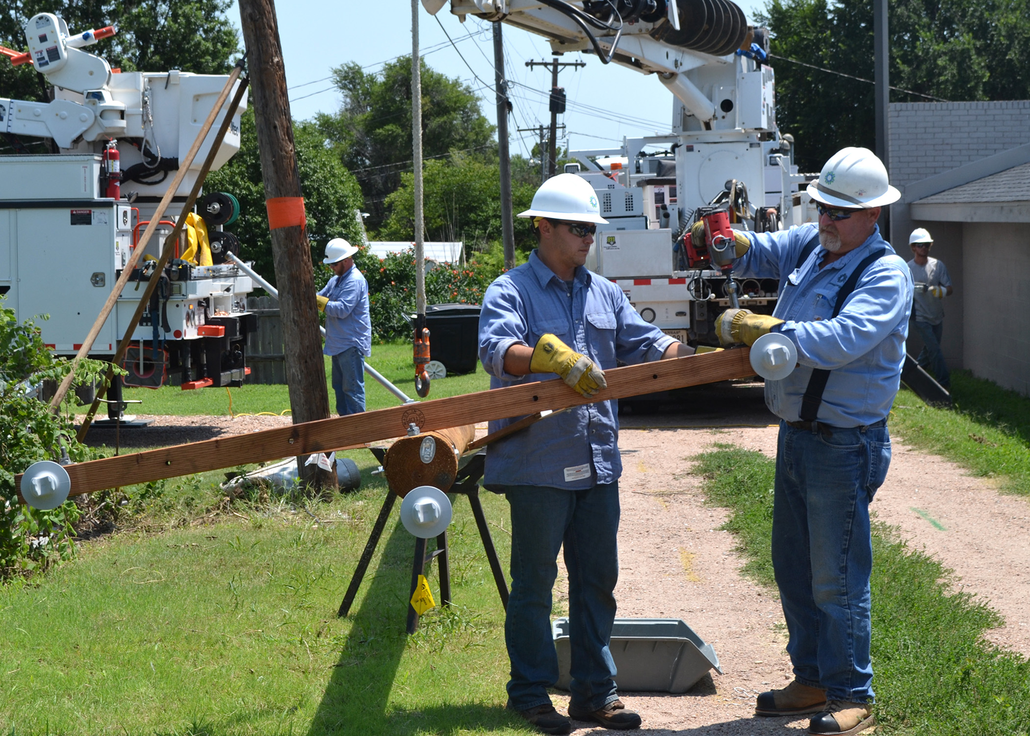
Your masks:
{"label": "thick brown wooden utility pole with bright orange band", "polygon": [[[240,0],[239,5],[279,287],[289,406],[294,424],[314,422],[330,416],[329,391],[279,26],[274,0]],[[334,471],[305,466],[304,460],[298,458],[298,470],[306,482],[337,488]]]}

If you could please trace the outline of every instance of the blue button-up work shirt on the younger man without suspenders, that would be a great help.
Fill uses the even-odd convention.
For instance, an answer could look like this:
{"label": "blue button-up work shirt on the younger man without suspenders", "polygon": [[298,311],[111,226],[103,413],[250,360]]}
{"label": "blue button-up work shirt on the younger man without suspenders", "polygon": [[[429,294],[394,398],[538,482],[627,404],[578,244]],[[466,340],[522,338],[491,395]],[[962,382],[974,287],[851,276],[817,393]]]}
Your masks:
{"label": "blue button-up work shirt on the younger man without suspenders", "polygon": [[[581,266],[570,289],[534,250],[528,263],[502,274],[483,297],[479,359],[490,388],[554,379],[554,373],[512,375],[504,367],[509,347],[536,347],[547,333],[602,370],[615,368],[616,361],[659,360],[676,341],[644,322],[616,285]],[[484,486],[582,490],[617,480],[622,474],[617,413],[615,400],[574,406],[491,444]],[[490,432],[519,419],[491,422]]]}

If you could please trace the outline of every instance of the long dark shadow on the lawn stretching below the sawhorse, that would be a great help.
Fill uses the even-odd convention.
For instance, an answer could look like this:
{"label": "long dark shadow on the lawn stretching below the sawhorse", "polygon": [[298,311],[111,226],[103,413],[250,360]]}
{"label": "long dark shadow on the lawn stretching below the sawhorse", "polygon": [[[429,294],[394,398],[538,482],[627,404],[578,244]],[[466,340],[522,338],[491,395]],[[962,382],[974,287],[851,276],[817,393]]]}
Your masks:
{"label": "long dark shadow on the lawn stretching below the sawhorse", "polygon": [[408,644],[405,624],[414,538],[400,524],[388,534],[380,541],[378,569],[363,581],[365,598],[357,612],[351,613],[353,626],[308,736],[416,731],[451,734],[511,726],[512,716],[503,708],[474,702],[407,710],[389,707],[390,692]]}

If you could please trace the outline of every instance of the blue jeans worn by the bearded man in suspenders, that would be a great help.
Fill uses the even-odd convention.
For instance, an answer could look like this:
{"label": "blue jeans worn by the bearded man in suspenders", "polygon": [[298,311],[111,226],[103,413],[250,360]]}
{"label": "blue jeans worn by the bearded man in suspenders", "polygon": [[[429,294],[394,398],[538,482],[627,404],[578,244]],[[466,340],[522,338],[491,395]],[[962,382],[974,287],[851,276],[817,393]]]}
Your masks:
{"label": "blue jeans worn by the bearded man in suspenders", "polygon": [[[820,431],[822,430],[822,431]],[[886,423],[780,423],[772,568],[794,676],[829,700],[872,701],[869,502],[891,462]]]}

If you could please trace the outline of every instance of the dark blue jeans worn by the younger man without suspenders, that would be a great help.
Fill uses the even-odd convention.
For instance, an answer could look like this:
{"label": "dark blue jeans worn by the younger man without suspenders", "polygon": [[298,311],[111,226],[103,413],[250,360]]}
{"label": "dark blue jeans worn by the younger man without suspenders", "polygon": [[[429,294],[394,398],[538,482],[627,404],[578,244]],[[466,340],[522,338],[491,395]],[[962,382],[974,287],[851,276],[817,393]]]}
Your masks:
{"label": "dark blue jeans worn by the younger man without suspenders", "polygon": [[564,543],[572,705],[603,708],[618,699],[608,640],[619,578],[619,483],[584,491],[540,486],[507,486],[503,491],[512,514],[512,590],[505,620],[511,707],[526,710],[551,702],[547,689],[558,679],[551,589]]}

